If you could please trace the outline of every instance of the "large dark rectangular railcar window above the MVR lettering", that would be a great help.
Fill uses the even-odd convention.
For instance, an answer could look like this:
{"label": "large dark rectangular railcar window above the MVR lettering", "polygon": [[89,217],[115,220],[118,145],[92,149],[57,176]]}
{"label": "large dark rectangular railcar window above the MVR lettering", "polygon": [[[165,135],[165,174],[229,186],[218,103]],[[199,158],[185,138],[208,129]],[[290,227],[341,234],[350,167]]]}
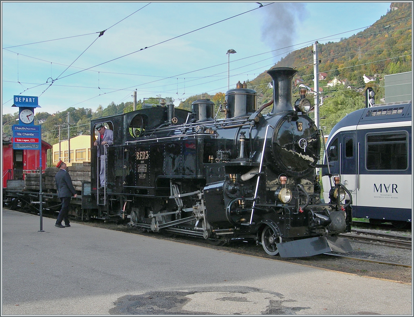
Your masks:
{"label": "large dark rectangular railcar window above the MVR lettering", "polygon": [[407,133],[367,134],[366,168],[402,170],[408,167]]}

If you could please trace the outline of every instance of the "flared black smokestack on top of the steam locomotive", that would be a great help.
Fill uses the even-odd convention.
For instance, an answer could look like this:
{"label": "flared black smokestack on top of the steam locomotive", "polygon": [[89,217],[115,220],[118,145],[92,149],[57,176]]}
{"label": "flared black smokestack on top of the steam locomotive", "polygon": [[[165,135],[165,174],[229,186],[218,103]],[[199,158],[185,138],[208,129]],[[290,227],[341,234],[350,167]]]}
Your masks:
{"label": "flared black smokestack on top of the steam locomotive", "polygon": [[290,67],[274,67],[267,71],[273,80],[273,109],[271,113],[293,110],[292,79],[298,71]]}

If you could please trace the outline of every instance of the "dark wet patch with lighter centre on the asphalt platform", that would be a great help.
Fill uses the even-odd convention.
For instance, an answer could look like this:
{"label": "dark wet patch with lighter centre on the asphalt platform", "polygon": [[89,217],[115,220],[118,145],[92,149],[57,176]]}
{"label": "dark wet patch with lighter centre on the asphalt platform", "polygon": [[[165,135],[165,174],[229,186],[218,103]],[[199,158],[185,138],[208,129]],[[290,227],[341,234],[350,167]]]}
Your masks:
{"label": "dark wet patch with lighter centre on the asphalt platform", "polygon": [[112,315],[295,315],[296,307],[280,293],[248,286],[221,286],[185,291],[150,291],[126,295],[114,303]]}

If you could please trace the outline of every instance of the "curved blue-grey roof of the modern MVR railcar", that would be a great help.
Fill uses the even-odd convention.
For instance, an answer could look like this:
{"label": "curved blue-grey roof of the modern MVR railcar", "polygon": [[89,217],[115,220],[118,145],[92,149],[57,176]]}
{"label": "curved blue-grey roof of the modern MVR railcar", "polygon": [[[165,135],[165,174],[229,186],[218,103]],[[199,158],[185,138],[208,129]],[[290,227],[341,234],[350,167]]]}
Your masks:
{"label": "curved blue-grey roof of the modern MVR railcar", "polygon": [[412,101],[388,102],[373,105],[369,108],[358,109],[346,115],[332,128],[329,138],[335,132],[346,126],[361,124],[400,122],[411,120]]}

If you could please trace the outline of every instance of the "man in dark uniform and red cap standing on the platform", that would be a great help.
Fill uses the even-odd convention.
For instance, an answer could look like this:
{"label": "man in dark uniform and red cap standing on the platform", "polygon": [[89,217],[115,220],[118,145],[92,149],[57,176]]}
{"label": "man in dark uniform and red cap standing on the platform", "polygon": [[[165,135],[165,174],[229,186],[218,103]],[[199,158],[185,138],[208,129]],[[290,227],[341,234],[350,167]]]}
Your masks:
{"label": "man in dark uniform and red cap standing on the platform", "polygon": [[[56,173],[55,182],[56,188],[58,189],[58,197],[62,202],[62,208],[60,209],[58,219],[56,220],[55,227],[65,228],[70,227],[69,223],[69,204],[70,199],[76,197],[76,191],[72,184],[72,179],[69,173],[66,171],[66,163],[59,161],[56,164],[59,171]],[[62,225],[62,220],[65,220],[65,225]]]}

